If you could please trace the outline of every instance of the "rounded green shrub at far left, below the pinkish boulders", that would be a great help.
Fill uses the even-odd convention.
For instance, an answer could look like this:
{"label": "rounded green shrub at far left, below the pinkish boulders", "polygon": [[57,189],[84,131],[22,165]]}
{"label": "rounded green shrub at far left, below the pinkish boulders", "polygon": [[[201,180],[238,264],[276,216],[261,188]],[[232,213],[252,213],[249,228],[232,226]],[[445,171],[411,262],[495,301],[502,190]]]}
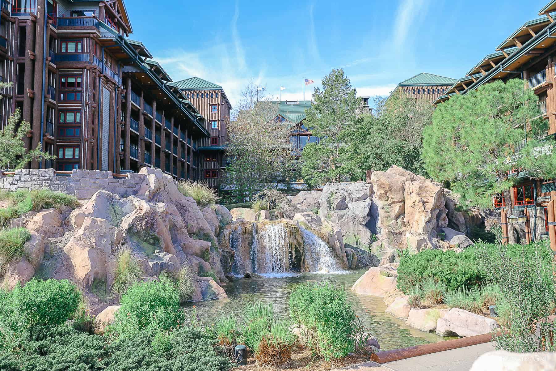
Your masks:
{"label": "rounded green shrub at far left, below the pinkish boulders", "polygon": [[69,280],[33,278],[9,293],[7,305],[21,327],[55,327],[76,313],[80,299],[81,291]]}

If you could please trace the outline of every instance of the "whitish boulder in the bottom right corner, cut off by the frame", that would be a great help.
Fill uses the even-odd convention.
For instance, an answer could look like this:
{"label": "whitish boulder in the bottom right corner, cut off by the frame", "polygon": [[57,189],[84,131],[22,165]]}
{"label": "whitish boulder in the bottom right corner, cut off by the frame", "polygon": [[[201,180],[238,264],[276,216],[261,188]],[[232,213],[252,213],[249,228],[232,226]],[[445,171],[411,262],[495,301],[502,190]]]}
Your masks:
{"label": "whitish boulder in the bottom right corner, cut off by the frame", "polygon": [[553,371],[556,353],[514,353],[497,350],[481,354],[469,371]]}

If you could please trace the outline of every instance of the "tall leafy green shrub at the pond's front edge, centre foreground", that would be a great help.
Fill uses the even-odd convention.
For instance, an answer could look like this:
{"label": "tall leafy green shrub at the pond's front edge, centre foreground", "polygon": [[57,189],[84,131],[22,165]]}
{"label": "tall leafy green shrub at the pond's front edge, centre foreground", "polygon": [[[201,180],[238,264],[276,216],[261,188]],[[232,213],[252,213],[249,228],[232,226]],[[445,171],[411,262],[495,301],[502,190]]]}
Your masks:
{"label": "tall leafy green shrub at the pond's front edge, centre foreground", "polygon": [[355,313],[343,289],[329,284],[301,284],[290,296],[290,315],[315,334],[316,343],[309,337],[304,339],[315,355],[328,360],[354,351],[351,333]]}

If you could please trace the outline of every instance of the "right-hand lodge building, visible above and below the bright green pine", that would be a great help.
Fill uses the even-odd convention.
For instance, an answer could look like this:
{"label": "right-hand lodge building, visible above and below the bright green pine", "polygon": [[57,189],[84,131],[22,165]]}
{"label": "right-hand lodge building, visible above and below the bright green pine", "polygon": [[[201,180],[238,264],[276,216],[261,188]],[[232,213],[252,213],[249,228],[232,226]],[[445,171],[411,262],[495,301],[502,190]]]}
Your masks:
{"label": "right-hand lodge building, visible above and below the bright green pine", "polygon": [[[518,27],[500,43],[494,53],[485,56],[434,104],[438,105],[451,96],[465,94],[491,81],[522,78],[525,88],[532,89],[539,97],[540,113],[549,123],[546,135],[556,135],[556,0],[540,9],[539,16]],[[533,241],[548,237],[547,206],[550,191],[556,190],[556,180],[532,179],[518,171],[514,174],[518,179],[510,191],[513,215],[529,215],[526,227],[523,223],[514,224],[514,227],[520,232],[521,239],[525,238],[524,230],[527,228],[530,228]],[[494,207],[502,206],[505,206],[505,200],[501,197],[494,200]]]}

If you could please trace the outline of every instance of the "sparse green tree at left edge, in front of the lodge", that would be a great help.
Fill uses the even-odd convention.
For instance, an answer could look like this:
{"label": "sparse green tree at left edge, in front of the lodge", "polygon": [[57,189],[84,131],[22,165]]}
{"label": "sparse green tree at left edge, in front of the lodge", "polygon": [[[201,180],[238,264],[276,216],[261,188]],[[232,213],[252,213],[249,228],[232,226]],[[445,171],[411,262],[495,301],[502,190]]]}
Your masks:
{"label": "sparse green tree at left edge, in front of the lodge", "polygon": [[[4,83],[0,88],[6,87]],[[33,160],[54,160],[56,157],[42,151],[41,144],[31,151],[26,151],[24,140],[31,130],[31,124],[21,120],[21,111],[16,108],[8,118],[8,125],[0,130],[0,170],[23,169]]]}

